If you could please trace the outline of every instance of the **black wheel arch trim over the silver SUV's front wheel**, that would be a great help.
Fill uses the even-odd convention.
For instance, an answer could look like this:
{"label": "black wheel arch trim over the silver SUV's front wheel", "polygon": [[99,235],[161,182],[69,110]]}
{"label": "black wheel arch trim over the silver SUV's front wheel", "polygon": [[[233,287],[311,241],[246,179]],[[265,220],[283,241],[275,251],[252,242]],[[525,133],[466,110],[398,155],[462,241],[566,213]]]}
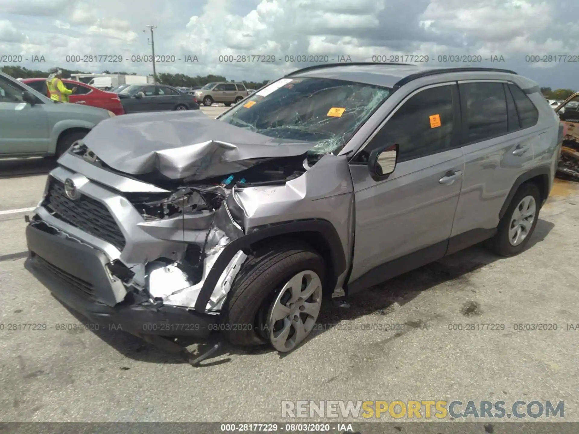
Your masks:
{"label": "black wheel arch trim over the silver SUV's front wheel", "polygon": [[240,250],[247,251],[252,244],[265,240],[266,238],[300,232],[320,233],[325,241],[328,242],[332,260],[330,267],[332,275],[330,276],[331,279],[329,283],[330,285],[332,283],[335,285],[339,275],[346,270],[346,255],[338,231],[336,231],[336,228],[332,223],[323,219],[306,219],[276,223],[275,225],[259,226],[250,233],[245,234],[243,237],[233,240],[223,248],[223,251],[218,256],[217,260],[215,260],[215,263],[203,282],[199,296],[197,296],[197,300],[195,301],[195,310],[199,312],[205,311],[219,277],[221,277],[223,270],[225,270],[237,252]]}

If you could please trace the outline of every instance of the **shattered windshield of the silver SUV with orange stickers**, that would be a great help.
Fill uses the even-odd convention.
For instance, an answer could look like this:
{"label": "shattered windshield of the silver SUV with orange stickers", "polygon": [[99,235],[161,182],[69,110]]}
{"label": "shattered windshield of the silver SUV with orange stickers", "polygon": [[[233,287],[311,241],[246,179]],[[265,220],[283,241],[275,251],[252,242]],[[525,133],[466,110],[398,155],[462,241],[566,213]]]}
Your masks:
{"label": "shattered windshield of the silver SUV with orange stickers", "polygon": [[218,119],[273,138],[312,142],[313,154],[338,153],[391,91],[344,80],[285,78]]}

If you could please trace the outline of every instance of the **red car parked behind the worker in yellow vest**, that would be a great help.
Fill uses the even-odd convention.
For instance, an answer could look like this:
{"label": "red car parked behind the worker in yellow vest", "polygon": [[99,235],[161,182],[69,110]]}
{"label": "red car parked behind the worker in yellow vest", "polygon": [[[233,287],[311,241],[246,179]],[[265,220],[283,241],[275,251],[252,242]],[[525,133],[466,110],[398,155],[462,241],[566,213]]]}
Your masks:
{"label": "red car parked behind the worker in yellow vest", "polygon": [[[23,78],[20,79],[20,82],[50,98],[45,78]],[[76,87],[76,92],[68,95],[68,100],[70,102],[74,102],[75,104],[92,105],[93,107],[109,110],[115,113],[115,115],[124,115],[123,105],[120,104],[119,96],[116,93],[105,92],[104,90],[97,89],[96,87],[75,80],[63,79],[63,83],[68,89]]]}

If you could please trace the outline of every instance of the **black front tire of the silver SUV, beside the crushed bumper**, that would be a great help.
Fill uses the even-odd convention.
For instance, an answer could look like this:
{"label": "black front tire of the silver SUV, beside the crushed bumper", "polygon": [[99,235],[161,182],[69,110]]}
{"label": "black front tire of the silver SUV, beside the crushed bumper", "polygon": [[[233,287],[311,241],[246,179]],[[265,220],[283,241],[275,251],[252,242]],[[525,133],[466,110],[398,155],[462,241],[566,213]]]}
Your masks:
{"label": "black front tire of the silver SUV, beside the crushed bumper", "polygon": [[[321,306],[321,292],[325,281],[326,266],[324,259],[309,245],[302,242],[285,242],[266,246],[255,255],[249,256],[223,304],[221,322],[226,330],[224,333],[227,339],[234,345],[251,346],[269,343],[276,348],[270,339],[270,330],[267,328],[268,316],[272,314],[272,308],[277,301],[280,301],[280,297],[283,297],[284,294],[287,295],[288,291],[291,292],[289,289],[283,290],[287,286],[287,282],[292,277],[302,273],[307,273],[310,276],[312,273],[317,274],[320,278],[320,301],[316,303]],[[301,284],[302,280],[299,282]],[[313,283],[314,280],[312,279],[310,282]],[[312,297],[308,299],[312,301]],[[303,312],[294,311],[291,314],[294,315],[293,318],[297,318],[296,313],[301,318]],[[313,327],[311,319],[313,318],[315,323],[318,313],[319,308],[315,318],[308,316],[309,326],[307,328],[309,330],[306,328],[307,333],[301,340],[296,341],[291,348],[280,349],[280,345],[278,345],[276,350],[286,352],[297,347],[312,331],[310,328],[310,326]],[[285,319],[280,321],[283,323]],[[305,323],[306,321],[302,322]],[[294,336],[297,336],[295,328],[293,330]],[[288,341],[290,340],[288,339]]]}

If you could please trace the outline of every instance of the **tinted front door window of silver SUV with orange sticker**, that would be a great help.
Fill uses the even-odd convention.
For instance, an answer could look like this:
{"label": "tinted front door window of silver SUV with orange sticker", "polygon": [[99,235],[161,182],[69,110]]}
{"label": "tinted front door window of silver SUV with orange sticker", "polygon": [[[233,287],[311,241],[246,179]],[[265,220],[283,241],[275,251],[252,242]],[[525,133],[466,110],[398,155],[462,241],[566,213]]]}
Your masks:
{"label": "tinted front door window of silver SUV with orange sticker", "polygon": [[455,126],[452,86],[437,86],[413,95],[394,113],[364,148],[359,161],[367,161],[373,149],[398,145],[398,162],[452,148]]}

